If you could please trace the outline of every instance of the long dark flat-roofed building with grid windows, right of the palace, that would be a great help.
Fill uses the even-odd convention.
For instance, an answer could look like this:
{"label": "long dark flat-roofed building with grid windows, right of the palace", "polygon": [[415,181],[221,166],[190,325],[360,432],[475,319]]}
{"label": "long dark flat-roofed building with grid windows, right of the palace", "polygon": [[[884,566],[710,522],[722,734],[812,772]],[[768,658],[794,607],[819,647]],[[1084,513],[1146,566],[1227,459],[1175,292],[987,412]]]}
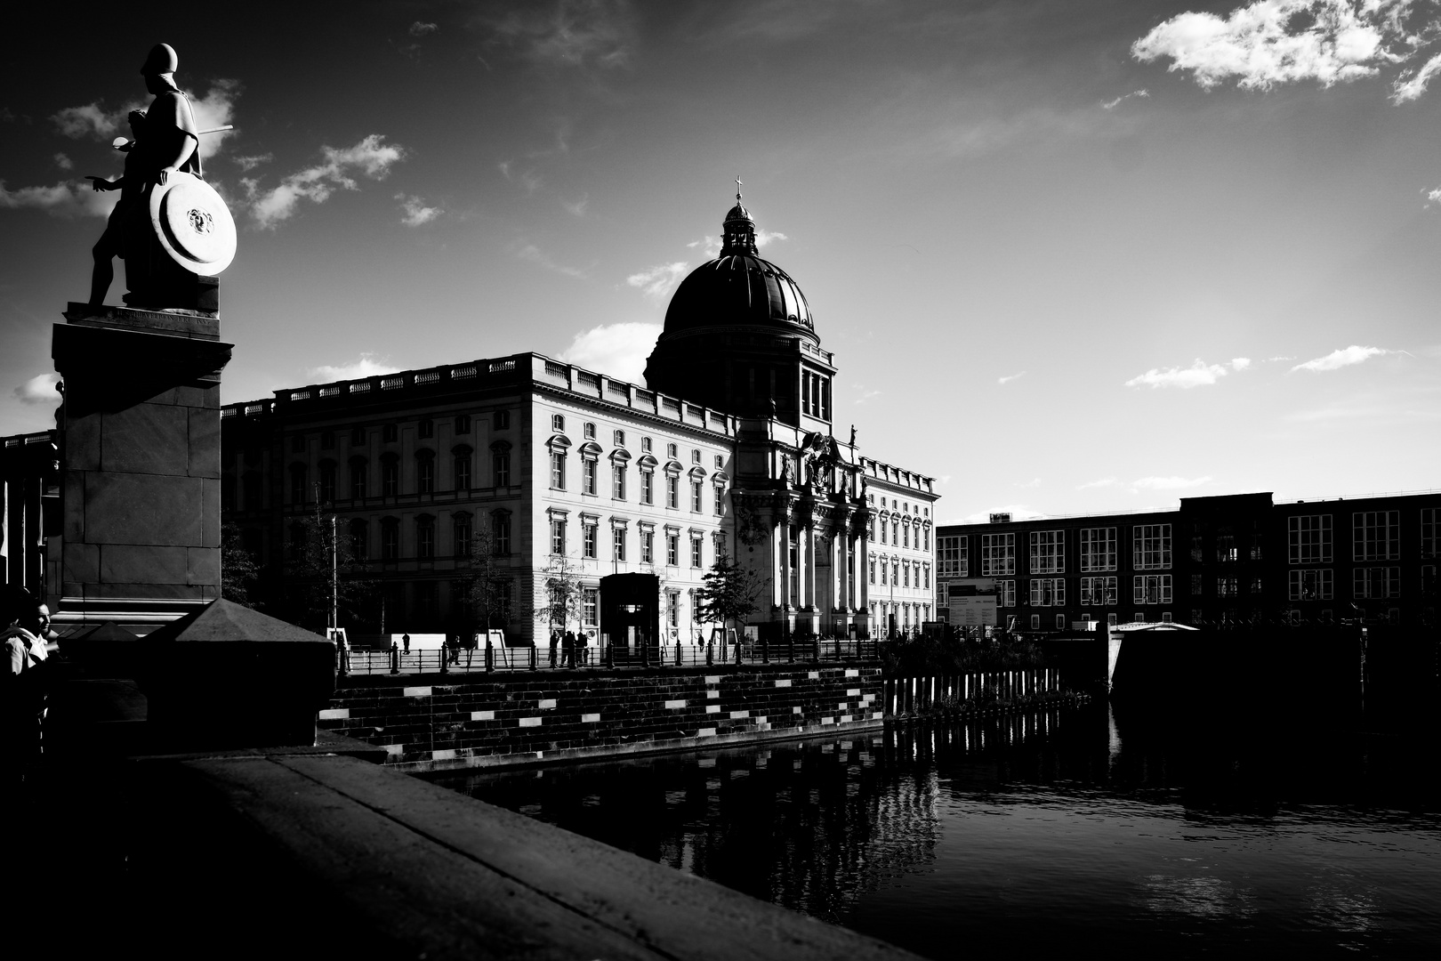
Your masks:
{"label": "long dark flat-roofed building with grid windows, right of the palace", "polygon": [[1274,503],[1183,497],[1179,510],[937,530],[938,601],[994,578],[1001,624],[1437,622],[1441,493]]}

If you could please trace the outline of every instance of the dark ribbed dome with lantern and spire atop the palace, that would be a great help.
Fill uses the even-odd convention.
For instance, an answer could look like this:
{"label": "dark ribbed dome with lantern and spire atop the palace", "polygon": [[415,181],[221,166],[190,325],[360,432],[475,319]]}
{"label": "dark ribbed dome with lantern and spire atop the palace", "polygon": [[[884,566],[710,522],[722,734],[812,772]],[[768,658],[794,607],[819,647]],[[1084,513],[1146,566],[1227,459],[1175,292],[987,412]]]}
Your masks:
{"label": "dark ribbed dome with lantern and spire atop the palace", "polygon": [[757,255],[755,220],[739,195],[735,200],[725,218],[720,256],[693,269],[676,288],[661,336],[759,326],[814,337],[806,295],[790,274]]}

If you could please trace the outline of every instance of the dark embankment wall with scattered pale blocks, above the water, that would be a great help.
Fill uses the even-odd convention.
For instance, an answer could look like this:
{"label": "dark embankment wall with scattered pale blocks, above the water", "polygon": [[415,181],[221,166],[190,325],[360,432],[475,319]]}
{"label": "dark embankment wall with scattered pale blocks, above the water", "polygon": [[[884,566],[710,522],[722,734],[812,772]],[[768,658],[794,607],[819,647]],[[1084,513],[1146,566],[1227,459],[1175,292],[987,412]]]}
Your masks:
{"label": "dark embankment wall with scattered pale blocks, above the water", "polygon": [[320,726],[424,771],[672,751],[882,723],[879,667],[346,677]]}

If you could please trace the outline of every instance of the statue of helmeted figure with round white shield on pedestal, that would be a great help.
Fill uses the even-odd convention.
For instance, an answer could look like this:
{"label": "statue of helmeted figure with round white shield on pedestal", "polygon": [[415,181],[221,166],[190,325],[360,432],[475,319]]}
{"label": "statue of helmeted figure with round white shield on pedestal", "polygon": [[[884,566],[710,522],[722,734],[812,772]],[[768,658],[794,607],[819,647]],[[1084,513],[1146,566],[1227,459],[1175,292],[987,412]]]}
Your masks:
{"label": "statue of helmeted figure with round white shield on pedestal", "polygon": [[[125,261],[124,300],[133,307],[196,307],[197,275],[213,275],[235,256],[235,222],[220,196],[205,183],[190,101],[176,86],[179,58],[157,43],[140,68],[154,95],[144,112],[130,112],[133,140],[118,180],[86,177],[95,190],[120,190],[120,203],[95,243],[89,303],[104,304],[114,280],[112,259]],[[223,130],[223,128],[222,128]]]}

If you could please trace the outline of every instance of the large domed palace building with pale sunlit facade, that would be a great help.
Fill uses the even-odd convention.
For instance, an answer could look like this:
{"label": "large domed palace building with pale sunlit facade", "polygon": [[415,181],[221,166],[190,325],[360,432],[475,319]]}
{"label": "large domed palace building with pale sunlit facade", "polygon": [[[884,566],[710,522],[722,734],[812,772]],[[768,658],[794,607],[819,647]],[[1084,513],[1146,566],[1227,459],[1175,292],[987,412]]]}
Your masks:
{"label": "large domed palace building with pale sunlit facade", "polygon": [[356,633],[461,630],[481,529],[512,643],[549,631],[532,611],[562,569],[586,628],[602,576],[654,573],[663,630],[709,637],[695,592],[720,556],[757,572],[765,631],[934,620],[934,480],[836,437],[836,359],[739,199],[720,255],[676,290],[646,386],[522,353],[228,405],[222,519],[259,596],[294,575],[318,506],[375,585]]}

